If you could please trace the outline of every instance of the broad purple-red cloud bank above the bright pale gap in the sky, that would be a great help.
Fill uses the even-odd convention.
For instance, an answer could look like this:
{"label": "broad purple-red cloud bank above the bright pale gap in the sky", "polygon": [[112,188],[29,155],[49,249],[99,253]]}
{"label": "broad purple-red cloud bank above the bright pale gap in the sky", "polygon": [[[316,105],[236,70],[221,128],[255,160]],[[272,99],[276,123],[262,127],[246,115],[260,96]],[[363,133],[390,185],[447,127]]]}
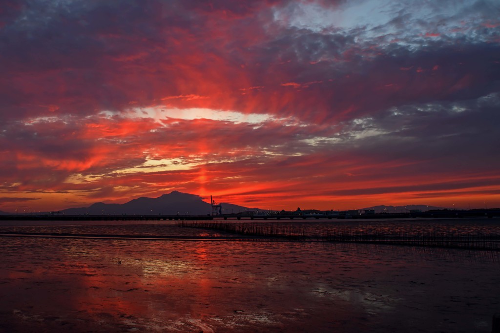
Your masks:
{"label": "broad purple-red cloud bank above the bright pale gap in the sky", "polygon": [[[150,105],[195,94],[206,98],[169,105],[261,112],[271,100],[272,112],[324,120],[383,110],[396,98],[411,103],[464,92],[470,98],[497,88],[491,86],[498,80],[497,44],[439,39],[408,49],[404,42],[356,41],[366,39],[365,30],[356,35],[284,28],[267,16],[213,22],[216,8],[252,13],[280,2],[196,3],[196,10],[190,2],[129,2],[67,5],[74,8],[29,2],[23,14],[33,21],[2,31],[5,116],[120,110],[130,101]],[[435,66],[439,70],[432,71]],[[290,82],[305,88],[282,86]],[[239,89],[248,86],[264,88],[241,95]],[[308,109],[312,100],[314,111]]]}

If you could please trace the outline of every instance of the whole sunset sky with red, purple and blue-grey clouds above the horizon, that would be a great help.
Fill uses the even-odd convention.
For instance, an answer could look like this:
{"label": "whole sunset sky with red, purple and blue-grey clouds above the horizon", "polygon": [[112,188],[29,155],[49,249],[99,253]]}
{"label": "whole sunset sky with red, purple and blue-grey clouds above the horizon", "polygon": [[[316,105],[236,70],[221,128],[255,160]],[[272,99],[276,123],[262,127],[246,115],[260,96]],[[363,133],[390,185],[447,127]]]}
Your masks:
{"label": "whole sunset sky with red, purple and blue-grey clouds above the horizon", "polygon": [[500,206],[497,0],[2,0],[0,210]]}

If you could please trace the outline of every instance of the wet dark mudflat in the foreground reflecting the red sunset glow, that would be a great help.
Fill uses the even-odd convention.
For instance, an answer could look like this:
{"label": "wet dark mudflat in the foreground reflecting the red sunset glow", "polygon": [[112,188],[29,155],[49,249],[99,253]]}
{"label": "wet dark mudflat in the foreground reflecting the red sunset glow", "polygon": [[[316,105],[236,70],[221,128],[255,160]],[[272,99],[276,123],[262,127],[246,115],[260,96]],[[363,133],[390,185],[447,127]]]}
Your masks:
{"label": "wet dark mudflat in the foreground reflecting the red sunset glow", "polygon": [[[12,228],[222,235],[159,223],[1,229]],[[25,236],[0,246],[2,332],[489,333],[500,311],[497,251]]]}

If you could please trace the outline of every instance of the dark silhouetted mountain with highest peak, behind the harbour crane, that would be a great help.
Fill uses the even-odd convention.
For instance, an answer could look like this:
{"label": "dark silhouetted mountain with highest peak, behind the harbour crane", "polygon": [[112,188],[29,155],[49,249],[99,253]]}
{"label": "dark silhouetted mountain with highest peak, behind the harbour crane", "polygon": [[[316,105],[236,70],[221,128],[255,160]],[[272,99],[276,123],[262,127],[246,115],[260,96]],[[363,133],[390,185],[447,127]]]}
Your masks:
{"label": "dark silhouetted mountain with highest peak, behind the harbour crane", "polygon": [[[221,207],[222,213],[257,209],[224,202]],[[211,211],[211,204],[203,201],[199,195],[172,191],[156,198],[139,197],[122,204],[97,202],[88,207],[68,208],[60,212],[65,215],[206,215]]]}

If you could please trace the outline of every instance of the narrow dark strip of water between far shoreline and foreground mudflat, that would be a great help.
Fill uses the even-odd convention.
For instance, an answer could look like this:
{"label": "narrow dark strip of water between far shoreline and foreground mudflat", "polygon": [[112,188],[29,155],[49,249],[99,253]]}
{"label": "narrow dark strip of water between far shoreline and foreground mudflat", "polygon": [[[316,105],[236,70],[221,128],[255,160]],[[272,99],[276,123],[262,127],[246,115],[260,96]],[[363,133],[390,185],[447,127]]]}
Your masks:
{"label": "narrow dark strip of water between far shoreline and foreground mudflat", "polygon": [[[194,221],[196,222],[196,221]],[[210,223],[211,221],[198,221]],[[359,233],[398,234],[438,233],[446,235],[500,235],[500,220],[491,218],[404,218],[349,220],[216,220],[234,223],[273,226],[276,230],[304,233],[308,236],[350,230]],[[176,228],[178,221],[0,221],[0,233],[42,232],[72,234],[119,234],[149,236],[222,236],[213,230]],[[191,221],[186,221],[186,224]],[[227,234],[224,234],[227,236]]]}

